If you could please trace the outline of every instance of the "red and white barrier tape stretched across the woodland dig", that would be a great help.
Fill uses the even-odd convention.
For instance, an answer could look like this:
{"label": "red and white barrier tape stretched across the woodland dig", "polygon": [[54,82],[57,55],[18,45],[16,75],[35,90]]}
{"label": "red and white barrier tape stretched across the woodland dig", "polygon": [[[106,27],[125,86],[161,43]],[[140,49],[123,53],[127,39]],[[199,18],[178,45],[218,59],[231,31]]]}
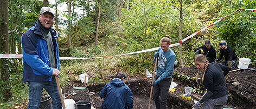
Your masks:
{"label": "red and white barrier tape stretched across the woodland dig", "polygon": [[[215,21],[214,23],[206,26],[205,28],[193,33],[192,35],[182,39],[182,41],[179,41],[178,43],[176,44],[171,44],[169,47],[174,47],[174,46],[179,46],[180,44],[182,44],[183,42],[185,42],[186,40],[194,37],[195,35],[197,35],[198,33],[210,28],[210,26],[213,26],[214,24],[222,21],[223,19],[233,15],[235,12],[238,12],[240,10],[248,10],[248,11],[256,11],[256,9],[238,9],[234,12],[232,12],[231,14],[219,19],[218,21]],[[107,58],[107,57],[117,57],[117,56],[124,56],[124,55],[129,55],[129,54],[136,54],[136,53],[142,53],[142,52],[149,52],[149,51],[155,51],[155,50],[158,50],[159,47],[155,47],[155,48],[152,48],[152,49],[146,49],[146,50],[141,50],[141,51],[136,51],[136,52],[131,52],[131,53],[125,53],[125,54],[118,54],[118,55],[114,55],[114,56],[104,56],[104,57],[91,57],[91,58],[76,58],[76,57],[60,57],[61,60],[72,60],[72,59],[93,59],[93,58]],[[0,54],[0,58],[22,58],[22,54]]]}

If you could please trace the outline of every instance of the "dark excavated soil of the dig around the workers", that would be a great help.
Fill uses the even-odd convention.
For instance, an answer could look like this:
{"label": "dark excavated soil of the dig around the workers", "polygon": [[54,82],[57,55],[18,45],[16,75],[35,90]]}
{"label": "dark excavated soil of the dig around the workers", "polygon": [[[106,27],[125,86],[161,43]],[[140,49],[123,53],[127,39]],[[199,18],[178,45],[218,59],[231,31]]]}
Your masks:
{"label": "dark excavated soil of the dig around the workers", "polygon": [[[249,66],[252,68],[252,66]],[[255,69],[255,68],[253,68]],[[232,69],[235,70],[235,69]],[[196,83],[195,77],[198,70],[194,67],[183,67],[182,69],[175,69],[172,81],[178,84],[176,86],[175,92],[169,92],[168,94],[168,108],[191,108],[194,105],[194,102],[197,101],[195,97],[191,97],[191,100],[186,101],[181,98],[181,94],[185,94],[184,87],[190,86],[196,88],[200,86]],[[228,74],[226,79],[226,85],[229,91],[229,100],[228,103],[223,107],[231,108],[256,108],[255,93],[256,93],[256,71],[245,70],[244,72],[235,71]],[[179,76],[187,76],[186,79]],[[112,77],[114,76],[108,76]],[[151,78],[144,77],[129,77],[125,82],[132,91],[134,97],[134,108],[148,108],[149,104],[149,93],[150,93],[150,84]],[[72,81],[72,84],[78,87],[85,87],[82,83],[76,83]],[[92,101],[92,106],[95,108],[101,108],[101,103],[104,99],[99,97],[99,92],[104,87],[105,84],[93,84],[87,86],[86,90],[75,90],[73,87],[62,87],[64,96],[67,96],[71,93],[76,93],[75,96],[69,97],[67,99],[74,99],[75,101]],[[201,90],[205,90],[202,86]],[[195,96],[201,98],[202,94],[194,93]],[[155,103],[151,100],[151,108],[155,108]]]}

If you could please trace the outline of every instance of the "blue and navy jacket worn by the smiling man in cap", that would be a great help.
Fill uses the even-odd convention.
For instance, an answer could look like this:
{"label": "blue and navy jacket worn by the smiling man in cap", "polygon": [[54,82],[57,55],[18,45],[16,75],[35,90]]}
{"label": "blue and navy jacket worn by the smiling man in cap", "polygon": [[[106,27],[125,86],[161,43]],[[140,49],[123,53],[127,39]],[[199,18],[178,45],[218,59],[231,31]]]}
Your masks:
{"label": "blue and navy jacket worn by the smiling man in cap", "polygon": [[[41,23],[29,28],[21,38],[23,55],[23,82],[52,81],[53,68],[50,67],[47,42],[41,33]],[[52,35],[56,67],[60,67],[59,51],[57,47],[57,32],[50,28]]]}

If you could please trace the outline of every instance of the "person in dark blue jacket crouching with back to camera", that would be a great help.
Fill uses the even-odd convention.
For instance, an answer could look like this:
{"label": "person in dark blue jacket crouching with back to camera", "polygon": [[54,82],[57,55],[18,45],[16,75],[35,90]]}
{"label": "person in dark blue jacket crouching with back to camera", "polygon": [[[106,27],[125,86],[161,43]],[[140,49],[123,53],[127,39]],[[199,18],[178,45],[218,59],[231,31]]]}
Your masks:
{"label": "person in dark blue jacket crouching with back to camera", "polygon": [[116,78],[107,83],[100,91],[100,98],[105,98],[101,108],[133,108],[133,96],[130,88],[124,83],[127,75],[119,72]]}

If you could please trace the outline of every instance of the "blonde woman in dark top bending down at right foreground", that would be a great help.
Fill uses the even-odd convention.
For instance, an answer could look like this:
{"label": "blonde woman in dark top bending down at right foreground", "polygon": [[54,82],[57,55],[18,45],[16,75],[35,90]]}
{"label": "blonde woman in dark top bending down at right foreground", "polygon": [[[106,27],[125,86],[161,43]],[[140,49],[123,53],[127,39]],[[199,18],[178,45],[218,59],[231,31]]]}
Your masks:
{"label": "blonde woman in dark top bending down at right foreground", "polygon": [[209,63],[203,54],[198,54],[195,57],[195,65],[197,69],[204,71],[201,79],[207,92],[193,107],[199,108],[202,104],[201,108],[221,108],[228,100],[224,76],[227,75],[231,68],[218,63]]}

